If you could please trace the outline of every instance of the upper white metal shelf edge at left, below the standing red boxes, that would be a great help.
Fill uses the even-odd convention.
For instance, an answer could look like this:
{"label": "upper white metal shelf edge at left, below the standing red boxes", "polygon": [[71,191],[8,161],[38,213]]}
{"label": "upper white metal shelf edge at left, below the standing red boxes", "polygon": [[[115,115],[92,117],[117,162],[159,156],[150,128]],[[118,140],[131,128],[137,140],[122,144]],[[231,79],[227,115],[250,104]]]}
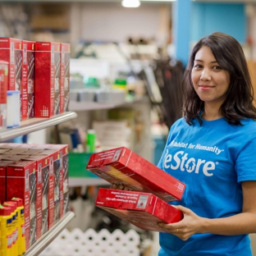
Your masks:
{"label": "upper white metal shelf edge at left, below the standing red boxes", "polygon": [[5,141],[7,139],[13,139],[21,135],[27,135],[30,132],[41,130],[49,126],[55,126],[64,121],[69,121],[76,118],[77,114],[75,112],[66,112],[61,115],[50,118],[31,118],[25,121],[21,121],[21,126],[0,130],[0,141]]}

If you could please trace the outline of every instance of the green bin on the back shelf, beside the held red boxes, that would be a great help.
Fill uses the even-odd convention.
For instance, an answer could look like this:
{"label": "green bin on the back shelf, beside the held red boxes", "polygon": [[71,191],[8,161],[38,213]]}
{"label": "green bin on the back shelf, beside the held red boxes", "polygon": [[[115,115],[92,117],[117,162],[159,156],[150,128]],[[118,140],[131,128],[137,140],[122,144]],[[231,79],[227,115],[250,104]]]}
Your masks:
{"label": "green bin on the back shelf, beside the held red boxes", "polygon": [[94,173],[88,171],[85,167],[92,153],[75,153],[70,152],[69,155],[69,177],[72,178],[98,178]]}

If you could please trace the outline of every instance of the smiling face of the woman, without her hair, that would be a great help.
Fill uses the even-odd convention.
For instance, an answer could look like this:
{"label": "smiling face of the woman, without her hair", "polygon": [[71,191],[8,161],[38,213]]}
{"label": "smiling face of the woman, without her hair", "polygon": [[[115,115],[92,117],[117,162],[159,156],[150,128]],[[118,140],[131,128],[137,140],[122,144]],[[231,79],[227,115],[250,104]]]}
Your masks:
{"label": "smiling face of the woman, without her hair", "polygon": [[222,105],[230,85],[230,74],[218,65],[208,46],[203,46],[195,54],[191,79],[196,93],[205,104]]}

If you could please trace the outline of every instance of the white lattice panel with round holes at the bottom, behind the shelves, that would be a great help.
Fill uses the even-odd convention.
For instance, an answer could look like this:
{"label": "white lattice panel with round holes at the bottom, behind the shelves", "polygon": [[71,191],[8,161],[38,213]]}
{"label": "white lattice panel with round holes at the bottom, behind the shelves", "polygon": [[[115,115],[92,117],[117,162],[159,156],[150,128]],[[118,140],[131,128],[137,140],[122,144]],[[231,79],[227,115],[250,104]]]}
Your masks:
{"label": "white lattice panel with round holes at the bottom, behind the shelves", "polygon": [[40,256],[139,256],[139,234],[103,229],[83,232],[79,228],[62,231]]}

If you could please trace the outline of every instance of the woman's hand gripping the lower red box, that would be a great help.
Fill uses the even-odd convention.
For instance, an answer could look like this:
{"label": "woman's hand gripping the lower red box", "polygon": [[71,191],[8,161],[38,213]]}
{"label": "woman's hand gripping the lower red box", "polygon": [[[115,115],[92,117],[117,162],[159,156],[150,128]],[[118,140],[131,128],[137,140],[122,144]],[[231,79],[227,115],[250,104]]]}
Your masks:
{"label": "woman's hand gripping the lower red box", "polygon": [[163,231],[176,235],[181,238],[181,240],[188,240],[191,235],[203,231],[203,217],[199,217],[189,208],[185,208],[181,205],[173,205],[173,207],[179,209],[184,217],[180,222],[170,224],[159,223],[158,225],[162,227]]}

